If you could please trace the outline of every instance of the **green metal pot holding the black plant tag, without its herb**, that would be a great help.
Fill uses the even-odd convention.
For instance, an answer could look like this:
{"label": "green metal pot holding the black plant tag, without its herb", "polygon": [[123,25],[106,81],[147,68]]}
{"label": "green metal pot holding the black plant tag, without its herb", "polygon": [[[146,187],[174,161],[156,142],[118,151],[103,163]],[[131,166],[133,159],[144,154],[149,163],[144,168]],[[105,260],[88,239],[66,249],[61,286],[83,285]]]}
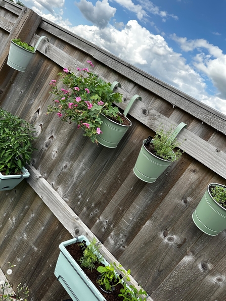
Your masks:
{"label": "green metal pot holding the black plant tag, without its herb", "polygon": [[[133,168],[133,172],[142,181],[154,183],[173,160],[164,160],[150,153],[149,150],[144,146],[146,140],[147,139],[145,139],[142,143],[140,154]],[[174,158],[175,154],[172,152],[172,159]]]}

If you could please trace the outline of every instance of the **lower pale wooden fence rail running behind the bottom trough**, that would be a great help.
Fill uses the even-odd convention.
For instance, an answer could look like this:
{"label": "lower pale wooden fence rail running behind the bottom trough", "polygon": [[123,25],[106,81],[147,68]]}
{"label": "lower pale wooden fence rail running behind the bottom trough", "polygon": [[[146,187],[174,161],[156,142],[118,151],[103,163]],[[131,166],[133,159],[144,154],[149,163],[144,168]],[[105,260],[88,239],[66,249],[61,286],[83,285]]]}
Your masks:
{"label": "lower pale wooden fence rail running behind the bottom trough", "polygon": [[[76,237],[78,235],[85,235],[89,240],[95,237],[93,232],[89,230],[89,228],[79,219],[74,211],[65,203],[63,198],[31,165],[29,166],[29,173],[30,177],[27,178],[29,185],[39,195],[43,202],[49,207],[52,213],[57,217],[57,219],[73,237]],[[97,240],[99,239],[97,238]],[[108,262],[115,262],[116,264],[119,264],[117,259],[103,244],[101,244],[101,253],[104,255],[105,259]],[[138,285],[137,281],[135,281],[131,276],[129,277],[131,284],[139,288],[140,286]],[[148,297],[147,300],[153,301],[151,297]]]}

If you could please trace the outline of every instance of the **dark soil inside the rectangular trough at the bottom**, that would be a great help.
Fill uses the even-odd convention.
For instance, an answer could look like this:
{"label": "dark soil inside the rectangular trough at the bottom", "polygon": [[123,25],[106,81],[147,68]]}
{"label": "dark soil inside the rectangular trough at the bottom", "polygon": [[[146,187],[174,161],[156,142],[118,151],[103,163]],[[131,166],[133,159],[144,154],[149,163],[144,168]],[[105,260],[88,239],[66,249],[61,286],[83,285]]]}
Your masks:
{"label": "dark soil inside the rectangular trough at the bottom", "polygon": [[[72,243],[67,246],[65,246],[68,253],[72,256],[72,258],[77,262],[79,265],[79,259],[83,256],[83,250],[79,243]],[[100,266],[101,264],[97,264],[96,268]],[[80,266],[80,265],[79,265]],[[100,276],[100,273],[95,269],[89,270],[86,268],[80,268],[83,270],[83,272],[86,274],[86,276],[94,283],[94,285],[97,287],[97,289],[101,292],[101,294],[105,297],[107,301],[122,301],[123,297],[119,297],[118,294],[120,293],[120,289],[122,288],[121,284],[118,284],[115,286],[115,290],[111,293],[104,292],[100,285],[97,283],[97,278]],[[88,301],[88,300],[87,300]]]}

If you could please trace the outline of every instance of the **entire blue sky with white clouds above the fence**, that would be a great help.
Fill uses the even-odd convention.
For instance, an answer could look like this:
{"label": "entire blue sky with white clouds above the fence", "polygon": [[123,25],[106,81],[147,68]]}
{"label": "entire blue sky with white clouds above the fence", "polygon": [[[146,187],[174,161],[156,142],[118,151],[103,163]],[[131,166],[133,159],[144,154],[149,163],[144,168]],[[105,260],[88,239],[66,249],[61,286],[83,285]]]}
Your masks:
{"label": "entire blue sky with white clouds above the fence", "polygon": [[226,115],[226,0],[24,0]]}

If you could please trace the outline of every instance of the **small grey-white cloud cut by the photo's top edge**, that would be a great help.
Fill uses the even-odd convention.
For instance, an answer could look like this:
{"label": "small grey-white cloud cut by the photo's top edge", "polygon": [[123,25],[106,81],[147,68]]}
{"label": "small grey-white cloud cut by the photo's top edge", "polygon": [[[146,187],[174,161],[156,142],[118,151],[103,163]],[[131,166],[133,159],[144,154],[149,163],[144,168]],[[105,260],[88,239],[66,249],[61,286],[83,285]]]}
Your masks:
{"label": "small grey-white cloud cut by the photo's top edge", "polygon": [[99,28],[105,28],[112,17],[114,17],[116,9],[111,7],[108,0],[97,1],[96,6],[92,2],[80,0],[75,3],[82,15]]}

